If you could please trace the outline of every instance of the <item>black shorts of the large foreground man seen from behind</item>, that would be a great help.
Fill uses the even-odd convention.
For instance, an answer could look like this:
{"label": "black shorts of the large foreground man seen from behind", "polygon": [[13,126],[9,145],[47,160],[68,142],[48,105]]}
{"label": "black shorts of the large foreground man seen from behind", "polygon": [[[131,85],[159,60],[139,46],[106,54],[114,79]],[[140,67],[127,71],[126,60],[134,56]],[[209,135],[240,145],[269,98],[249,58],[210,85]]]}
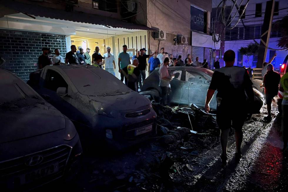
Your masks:
{"label": "black shorts of the large foreground man seen from behind", "polygon": [[238,110],[236,106],[235,109],[217,107],[216,111],[216,121],[217,125],[221,130],[230,129],[231,127],[237,130],[242,130],[245,118],[247,117],[244,110]]}

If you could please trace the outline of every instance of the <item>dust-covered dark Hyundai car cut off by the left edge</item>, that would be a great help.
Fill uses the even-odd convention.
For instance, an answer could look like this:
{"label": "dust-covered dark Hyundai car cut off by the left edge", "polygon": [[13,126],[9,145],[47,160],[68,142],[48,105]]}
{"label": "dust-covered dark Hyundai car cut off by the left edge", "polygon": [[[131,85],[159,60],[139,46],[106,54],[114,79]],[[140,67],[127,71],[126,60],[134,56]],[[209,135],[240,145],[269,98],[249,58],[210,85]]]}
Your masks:
{"label": "dust-covered dark Hyundai car cut off by the left edge", "polygon": [[0,92],[1,191],[26,191],[74,173],[82,147],[73,123],[4,69]]}

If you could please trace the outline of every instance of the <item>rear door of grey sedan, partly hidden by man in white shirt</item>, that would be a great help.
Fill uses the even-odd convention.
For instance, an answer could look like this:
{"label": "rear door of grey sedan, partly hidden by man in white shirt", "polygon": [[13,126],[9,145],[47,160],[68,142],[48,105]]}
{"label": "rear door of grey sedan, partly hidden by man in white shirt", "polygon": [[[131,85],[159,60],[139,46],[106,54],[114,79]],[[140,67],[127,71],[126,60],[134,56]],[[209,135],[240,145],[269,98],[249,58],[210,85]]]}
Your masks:
{"label": "rear door of grey sedan, partly hidden by man in white shirt", "polygon": [[182,98],[182,86],[185,84],[183,77],[183,69],[169,69],[168,72],[170,75],[174,75],[175,77],[170,82],[171,85],[171,95],[170,100],[175,103],[179,103]]}

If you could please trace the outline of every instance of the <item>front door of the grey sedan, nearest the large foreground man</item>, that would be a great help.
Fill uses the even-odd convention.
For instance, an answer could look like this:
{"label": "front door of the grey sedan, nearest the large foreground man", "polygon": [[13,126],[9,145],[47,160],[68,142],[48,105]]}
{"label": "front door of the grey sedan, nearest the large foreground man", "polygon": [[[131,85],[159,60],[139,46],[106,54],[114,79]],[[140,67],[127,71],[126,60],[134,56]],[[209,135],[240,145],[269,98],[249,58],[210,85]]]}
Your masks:
{"label": "front door of the grey sedan, nearest the large foreground man", "polygon": [[[201,71],[186,70],[185,71],[185,91],[189,103],[194,103],[199,107],[205,106],[207,90],[210,86],[211,77]],[[212,99],[210,106],[215,105],[215,98]]]}

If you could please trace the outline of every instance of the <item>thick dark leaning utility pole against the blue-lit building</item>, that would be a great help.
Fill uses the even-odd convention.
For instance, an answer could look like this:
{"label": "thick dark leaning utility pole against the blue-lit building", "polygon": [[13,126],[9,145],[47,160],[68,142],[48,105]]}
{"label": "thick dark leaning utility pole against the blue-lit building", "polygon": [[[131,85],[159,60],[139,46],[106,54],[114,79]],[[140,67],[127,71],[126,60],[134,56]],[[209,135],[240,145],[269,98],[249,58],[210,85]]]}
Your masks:
{"label": "thick dark leaning utility pole against the blue-lit building", "polygon": [[260,39],[260,47],[259,47],[259,54],[257,60],[257,68],[262,68],[263,63],[265,62],[266,55],[267,55],[267,47],[270,39],[271,27],[272,27],[272,20],[274,14],[274,4],[275,0],[267,1],[266,2],[266,9],[264,15],[264,22],[261,32],[261,39]]}

